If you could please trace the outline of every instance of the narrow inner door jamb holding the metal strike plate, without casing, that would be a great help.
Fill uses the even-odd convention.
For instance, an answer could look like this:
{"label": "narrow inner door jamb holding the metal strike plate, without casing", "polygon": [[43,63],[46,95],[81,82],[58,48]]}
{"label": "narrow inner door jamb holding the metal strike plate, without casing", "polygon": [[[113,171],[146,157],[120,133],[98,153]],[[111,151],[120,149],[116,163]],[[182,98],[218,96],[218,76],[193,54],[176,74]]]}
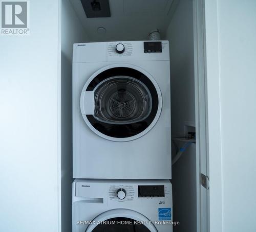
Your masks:
{"label": "narrow inner door jamb holding the metal strike plate, without casing", "polygon": [[209,231],[209,191],[201,185],[201,173],[209,176],[206,140],[206,80],[205,80],[205,25],[202,0],[193,1],[194,65],[196,107],[196,162],[197,162],[197,232]]}

